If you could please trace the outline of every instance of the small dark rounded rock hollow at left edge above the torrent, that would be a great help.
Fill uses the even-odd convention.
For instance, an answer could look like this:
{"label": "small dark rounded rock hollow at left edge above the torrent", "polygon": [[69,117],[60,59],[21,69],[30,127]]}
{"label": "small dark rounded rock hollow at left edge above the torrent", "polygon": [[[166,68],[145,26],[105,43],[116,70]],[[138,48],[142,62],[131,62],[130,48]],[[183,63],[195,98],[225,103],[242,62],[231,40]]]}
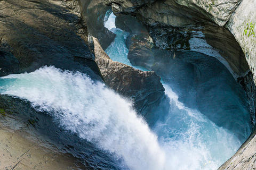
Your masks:
{"label": "small dark rounded rock hollow at left edge above the torrent", "polygon": [[19,61],[12,54],[0,51],[0,77],[14,73],[19,68]]}

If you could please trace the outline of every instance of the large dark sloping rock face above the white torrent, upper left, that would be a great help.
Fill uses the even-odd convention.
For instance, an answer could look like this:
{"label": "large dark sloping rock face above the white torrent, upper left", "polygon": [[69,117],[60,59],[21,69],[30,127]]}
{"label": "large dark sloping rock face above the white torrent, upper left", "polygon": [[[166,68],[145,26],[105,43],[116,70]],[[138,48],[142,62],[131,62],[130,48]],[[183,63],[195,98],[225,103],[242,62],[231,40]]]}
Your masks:
{"label": "large dark sloping rock face above the white torrent, upper left", "polygon": [[88,31],[78,1],[1,1],[0,50],[19,61],[14,73],[44,65],[86,73],[101,80],[87,46]]}

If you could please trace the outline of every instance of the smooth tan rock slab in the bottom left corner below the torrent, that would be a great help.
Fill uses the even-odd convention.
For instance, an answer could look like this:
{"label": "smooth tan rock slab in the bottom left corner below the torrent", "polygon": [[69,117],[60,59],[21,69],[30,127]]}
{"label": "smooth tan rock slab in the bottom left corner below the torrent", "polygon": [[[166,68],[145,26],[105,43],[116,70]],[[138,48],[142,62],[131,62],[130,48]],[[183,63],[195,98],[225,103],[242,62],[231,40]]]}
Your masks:
{"label": "smooth tan rock slab in the bottom left corner below the torrent", "polygon": [[0,114],[0,169],[86,169],[78,159],[55,148],[47,137],[38,135],[32,124],[12,116]]}

